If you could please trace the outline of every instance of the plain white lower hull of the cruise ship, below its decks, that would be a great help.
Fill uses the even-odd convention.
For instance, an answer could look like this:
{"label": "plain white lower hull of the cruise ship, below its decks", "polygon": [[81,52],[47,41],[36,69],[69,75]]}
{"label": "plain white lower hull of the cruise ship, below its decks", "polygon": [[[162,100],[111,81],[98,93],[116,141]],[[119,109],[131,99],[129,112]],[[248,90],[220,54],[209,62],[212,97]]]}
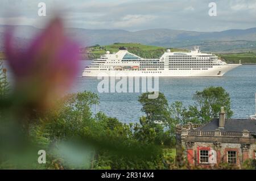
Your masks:
{"label": "plain white lower hull of the cruise ship, below its decks", "polygon": [[225,64],[207,70],[90,70],[84,71],[82,77],[222,77],[240,65]]}

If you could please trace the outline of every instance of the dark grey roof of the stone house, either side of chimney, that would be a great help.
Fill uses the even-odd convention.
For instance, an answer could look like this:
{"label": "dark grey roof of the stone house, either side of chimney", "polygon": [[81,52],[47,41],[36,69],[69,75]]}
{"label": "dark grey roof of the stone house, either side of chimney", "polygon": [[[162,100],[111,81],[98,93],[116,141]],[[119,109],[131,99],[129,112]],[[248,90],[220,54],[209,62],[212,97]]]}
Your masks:
{"label": "dark grey roof of the stone house, either side of chimney", "polygon": [[[218,129],[218,118],[213,119],[207,124],[197,128],[200,131],[215,131]],[[256,133],[256,120],[251,119],[225,119],[224,131],[228,132],[242,132],[247,129],[249,132]]]}

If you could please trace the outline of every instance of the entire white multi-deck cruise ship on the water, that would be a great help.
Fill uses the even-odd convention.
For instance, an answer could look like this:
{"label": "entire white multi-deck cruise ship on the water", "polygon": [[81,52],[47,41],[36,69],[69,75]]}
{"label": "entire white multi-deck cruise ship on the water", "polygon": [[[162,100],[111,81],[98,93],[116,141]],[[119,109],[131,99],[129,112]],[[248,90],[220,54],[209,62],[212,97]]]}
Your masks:
{"label": "entire white multi-deck cruise ship on the water", "polygon": [[145,59],[120,47],[117,53],[93,60],[82,77],[221,77],[241,64],[226,64],[212,53],[201,53],[199,47],[190,52],[167,49],[160,58]]}

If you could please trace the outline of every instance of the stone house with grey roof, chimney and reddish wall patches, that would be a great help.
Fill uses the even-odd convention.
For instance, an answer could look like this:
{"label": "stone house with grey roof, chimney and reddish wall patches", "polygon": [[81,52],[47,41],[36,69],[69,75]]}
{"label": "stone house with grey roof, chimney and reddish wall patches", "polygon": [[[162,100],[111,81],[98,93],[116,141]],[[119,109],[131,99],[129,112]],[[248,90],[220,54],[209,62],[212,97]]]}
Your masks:
{"label": "stone house with grey roof, chimney and reddish wall patches", "polygon": [[207,124],[176,125],[176,152],[192,165],[240,167],[256,158],[256,120],[225,119],[222,108],[219,118]]}

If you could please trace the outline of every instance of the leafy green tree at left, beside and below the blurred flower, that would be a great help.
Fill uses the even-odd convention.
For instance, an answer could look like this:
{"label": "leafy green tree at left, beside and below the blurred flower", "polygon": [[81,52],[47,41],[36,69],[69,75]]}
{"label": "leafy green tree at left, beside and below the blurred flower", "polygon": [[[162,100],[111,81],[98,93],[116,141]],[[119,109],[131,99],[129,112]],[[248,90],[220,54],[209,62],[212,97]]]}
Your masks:
{"label": "leafy green tree at left, beside and below the blurred flower", "polygon": [[53,140],[80,135],[86,126],[92,124],[90,107],[98,103],[97,94],[92,92],[67,95],[44,117],[44,129]]}

